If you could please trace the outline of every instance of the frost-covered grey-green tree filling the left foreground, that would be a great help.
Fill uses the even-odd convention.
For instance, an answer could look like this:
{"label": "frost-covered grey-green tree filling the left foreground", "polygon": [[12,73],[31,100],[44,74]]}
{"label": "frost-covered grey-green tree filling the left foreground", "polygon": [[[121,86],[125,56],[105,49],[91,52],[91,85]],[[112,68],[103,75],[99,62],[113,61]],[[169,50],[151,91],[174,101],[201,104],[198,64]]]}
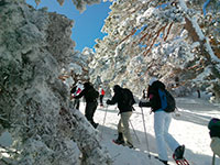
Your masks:
{"label": "frost-covered grey-green tree filling the left foreground", "polygon": [[[69,89],[58,78],[77,56],[73,21],[24,0],[2,0],[0,22],[0,164],[111,164],[98,132],[70,109]],[[72,62],[79,67],[87,58],[78,61]]]}

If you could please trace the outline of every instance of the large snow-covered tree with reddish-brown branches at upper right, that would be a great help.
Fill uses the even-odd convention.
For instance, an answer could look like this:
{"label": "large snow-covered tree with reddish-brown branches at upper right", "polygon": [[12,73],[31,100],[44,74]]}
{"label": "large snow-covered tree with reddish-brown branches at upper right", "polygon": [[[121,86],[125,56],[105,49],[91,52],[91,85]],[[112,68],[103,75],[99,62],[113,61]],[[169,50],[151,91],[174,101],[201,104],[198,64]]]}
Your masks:
{"label": "large snow-covered tree with reddish-brown branches at upper right", "polygon": [[168,87],[178,77],[178,88],[209,90],[218,100],[218,4],[205,0],[114,1],[102,28],[108,35],[95,45],[95,75],[138,94],[150,76]]}

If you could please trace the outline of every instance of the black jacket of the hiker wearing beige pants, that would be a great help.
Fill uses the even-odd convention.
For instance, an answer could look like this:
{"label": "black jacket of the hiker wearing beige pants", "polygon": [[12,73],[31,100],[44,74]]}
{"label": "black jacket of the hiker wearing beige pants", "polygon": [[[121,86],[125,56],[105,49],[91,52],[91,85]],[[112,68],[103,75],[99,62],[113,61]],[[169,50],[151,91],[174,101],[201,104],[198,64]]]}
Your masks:
{"label": "black jacket of the hiker wearing beige pants", "polygon": [[119,113],[132,111],[133,107],[130,106],[129,103],[124,103],[123,101],[123,95],[122,95],[123,88],[121,88],[120,86],[117,86],[117,88],[114,88],[113,90],[114,90],[114,96],[112,97],[111,100],[107,101],[107,105],[118,103]]}

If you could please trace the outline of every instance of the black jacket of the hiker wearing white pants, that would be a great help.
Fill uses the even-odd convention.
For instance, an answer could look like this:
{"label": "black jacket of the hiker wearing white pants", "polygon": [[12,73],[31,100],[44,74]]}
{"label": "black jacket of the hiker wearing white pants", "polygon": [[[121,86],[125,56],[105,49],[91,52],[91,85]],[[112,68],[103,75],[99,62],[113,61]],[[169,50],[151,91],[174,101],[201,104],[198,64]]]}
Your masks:
{"label": "black jacket of the hiker wearing white pants", "polygon": [[153,112],[161,109],[162,105],[158,95],[158,89],[165,90],[165,85],[160,80],[156,80],[152,84],[152,86],[148,86],[147,98],[150,99],[150,101],[142,102],[141,107],[151,107]]}

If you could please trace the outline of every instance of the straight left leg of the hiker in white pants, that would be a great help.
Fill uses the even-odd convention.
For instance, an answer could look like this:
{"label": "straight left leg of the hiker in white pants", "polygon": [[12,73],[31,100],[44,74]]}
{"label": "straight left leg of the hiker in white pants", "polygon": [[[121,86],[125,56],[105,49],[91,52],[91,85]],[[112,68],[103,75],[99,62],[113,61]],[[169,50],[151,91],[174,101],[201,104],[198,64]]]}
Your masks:
{"label": "straight left leg of the hiker in white pants", "polygon": [[154,113],[154,132],[156,136],[156,146],[158,152],[158,158],[168,161],[166,144],[164,141],[164,124],[165,124],[165,112],[156,111]]}

